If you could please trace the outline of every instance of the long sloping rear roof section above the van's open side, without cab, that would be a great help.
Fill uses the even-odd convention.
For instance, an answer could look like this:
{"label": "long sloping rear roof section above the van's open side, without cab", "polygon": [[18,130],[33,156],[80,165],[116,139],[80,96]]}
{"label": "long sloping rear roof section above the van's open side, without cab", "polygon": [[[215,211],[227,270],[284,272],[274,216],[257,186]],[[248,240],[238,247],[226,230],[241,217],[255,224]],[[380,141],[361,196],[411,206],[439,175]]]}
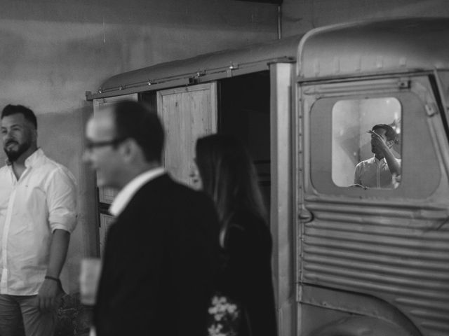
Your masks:
{"label": "long sloping rear roof section above the van's open side, without cab", "polygon": [[120,73],[105,80],[98,93],[87,92],[87,99],[188,85],[192,82],[201,83],[268,70],[272,62],[295,62],[300,38],[301,36],[292,36]]}

